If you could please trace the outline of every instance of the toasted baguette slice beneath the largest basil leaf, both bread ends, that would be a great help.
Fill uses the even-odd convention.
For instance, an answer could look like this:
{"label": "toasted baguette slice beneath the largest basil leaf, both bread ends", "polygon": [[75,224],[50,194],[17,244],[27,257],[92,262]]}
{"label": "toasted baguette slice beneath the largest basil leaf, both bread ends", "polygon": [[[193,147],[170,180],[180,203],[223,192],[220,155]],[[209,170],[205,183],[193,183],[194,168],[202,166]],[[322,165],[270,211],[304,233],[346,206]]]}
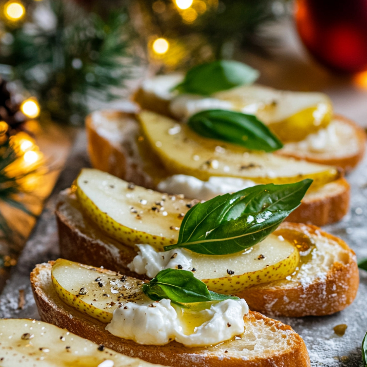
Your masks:
{"label": "toasted baguette slice beneath the largest basil leaf, both bread ends", "polygon": [[[73,194],[64,191],[56,210],[61,257],[103,266],[146,279],[128,269],[137,251],[104,235],[84,217]],[[283,223],[279,229],[305,233],[315,243],[311,259],[298,272],[247,288],[239,294],[251,310],[277,316],[322,316],[338,312],[356,297],[359,273],[355,253],[338,237],[311,225]]]}

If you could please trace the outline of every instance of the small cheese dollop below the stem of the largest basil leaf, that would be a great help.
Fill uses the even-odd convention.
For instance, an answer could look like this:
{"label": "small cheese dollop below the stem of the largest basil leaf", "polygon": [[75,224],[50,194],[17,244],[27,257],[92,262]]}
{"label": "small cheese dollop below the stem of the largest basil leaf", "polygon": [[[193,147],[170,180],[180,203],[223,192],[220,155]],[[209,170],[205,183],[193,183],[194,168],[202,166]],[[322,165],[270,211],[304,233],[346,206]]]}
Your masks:
{"label": "small cheese dollop below the stem of the largest basil leaf", "polygon": [[189,251],[183,248],[157,252],[153,246],[148,244],[136,246],[139,249],[138,254],[127,265],[135,273],[146,274],[149,278],[154,278],[161,270],[177,269],[177,265],[181,265],[180,268],[183,270],[192,269]]}

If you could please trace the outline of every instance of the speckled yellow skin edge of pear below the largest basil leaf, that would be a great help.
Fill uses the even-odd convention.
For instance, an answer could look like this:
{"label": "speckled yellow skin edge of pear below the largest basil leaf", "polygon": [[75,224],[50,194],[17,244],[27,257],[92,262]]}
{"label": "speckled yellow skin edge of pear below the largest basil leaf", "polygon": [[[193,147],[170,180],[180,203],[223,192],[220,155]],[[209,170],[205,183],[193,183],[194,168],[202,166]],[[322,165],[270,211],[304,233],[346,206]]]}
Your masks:
{"label": "speckled yellow skin edge of pear below the largest basil leaf", "polygon": [[236,294],[248,287],[255,286],[260,283],[268,283],[270,281],[284,279],[291,275],[299,263],[299,251],[294,251],[286,259],[276,264],[266,266],[261,270],[248,272],[241,275],[232,275],[217,279],[201,279],[209,290],[222,294]]}

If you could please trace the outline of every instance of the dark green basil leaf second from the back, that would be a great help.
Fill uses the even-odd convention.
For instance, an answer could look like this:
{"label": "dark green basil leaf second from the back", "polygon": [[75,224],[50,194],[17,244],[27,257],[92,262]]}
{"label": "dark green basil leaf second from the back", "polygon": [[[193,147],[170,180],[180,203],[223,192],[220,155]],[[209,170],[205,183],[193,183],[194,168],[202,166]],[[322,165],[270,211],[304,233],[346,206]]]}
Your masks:
{"label": "dark green basil leaf second from the back", "polygon": [[283,148],[281,141],[254,115],[228,110],[205,110],[191,116],[189,127],[197,134],[218,139],[251,150]]}

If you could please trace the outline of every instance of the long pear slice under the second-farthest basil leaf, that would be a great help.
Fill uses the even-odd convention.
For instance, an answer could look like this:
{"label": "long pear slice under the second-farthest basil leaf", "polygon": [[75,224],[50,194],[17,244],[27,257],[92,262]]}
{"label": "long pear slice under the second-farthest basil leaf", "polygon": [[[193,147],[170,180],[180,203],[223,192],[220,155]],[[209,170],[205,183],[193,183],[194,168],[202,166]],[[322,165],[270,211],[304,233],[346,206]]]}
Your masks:
{"label": "long pear slice under the second-farthest basil leaf", "polygon": [[[313,188],[334,181],[336,168],[200,137],[185,124],[153,112],[139,114],[150,147],[171,174],[186,174],[207,181],[211,176],[250,179],[257,183],[291,183],[312,178]],[[174,133],[172,133],[172,131]]]}

